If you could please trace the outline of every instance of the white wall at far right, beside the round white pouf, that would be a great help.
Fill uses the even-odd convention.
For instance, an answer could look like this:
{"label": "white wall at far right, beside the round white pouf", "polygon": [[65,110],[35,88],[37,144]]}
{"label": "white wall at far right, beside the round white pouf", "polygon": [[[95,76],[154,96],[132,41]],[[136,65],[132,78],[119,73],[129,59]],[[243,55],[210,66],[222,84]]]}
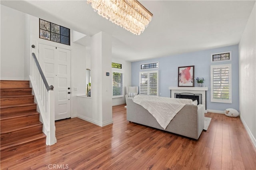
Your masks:
{"label": "white wall at far right, beside the round white pouf", "polygon": [[256,14],[255,4],[239,43],[240,118],[256,147]]}

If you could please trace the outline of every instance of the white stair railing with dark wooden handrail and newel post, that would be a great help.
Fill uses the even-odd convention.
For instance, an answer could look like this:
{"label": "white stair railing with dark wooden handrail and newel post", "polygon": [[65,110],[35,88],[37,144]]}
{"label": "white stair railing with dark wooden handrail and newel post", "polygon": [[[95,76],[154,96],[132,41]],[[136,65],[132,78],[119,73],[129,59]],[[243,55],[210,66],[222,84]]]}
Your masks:
{"label": "white stair railing with dark wooden handrail and newel post", "polygon": [[[32,48],[34,47],[32,45]],[[32,53],[29,77],[42,118],[46,144],[55,144],[57,140],[55,137],[54,87],[53,85],[48,85],[35,53]]]}

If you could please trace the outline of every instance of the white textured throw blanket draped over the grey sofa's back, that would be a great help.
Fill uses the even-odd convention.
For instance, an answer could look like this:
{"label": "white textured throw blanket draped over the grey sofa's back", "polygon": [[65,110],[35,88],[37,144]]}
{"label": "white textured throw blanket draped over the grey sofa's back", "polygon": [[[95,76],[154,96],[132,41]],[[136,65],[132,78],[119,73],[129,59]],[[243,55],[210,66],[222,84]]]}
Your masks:
{"label": "white textured throw blanket draped over the grey sofa's back", "polygon": [[133,102],[147,109],[164,129],[166,129],[170,121],[186,104],[192,105],[191,99],[142,95],[136,95],[133,98]]}

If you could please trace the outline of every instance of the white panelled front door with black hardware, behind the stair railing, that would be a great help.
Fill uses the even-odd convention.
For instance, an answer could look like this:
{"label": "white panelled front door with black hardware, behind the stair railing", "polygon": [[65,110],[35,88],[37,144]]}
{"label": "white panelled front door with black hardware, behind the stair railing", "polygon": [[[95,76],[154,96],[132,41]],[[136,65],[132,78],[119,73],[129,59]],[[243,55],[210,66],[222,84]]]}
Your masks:
{"label": "white panelled front door with black hardware, behind the stair railing", "polygon": [[70,57],[68,49],[39,44],[39,63],[49,85],[54,86],[55,120],[71,117]]}

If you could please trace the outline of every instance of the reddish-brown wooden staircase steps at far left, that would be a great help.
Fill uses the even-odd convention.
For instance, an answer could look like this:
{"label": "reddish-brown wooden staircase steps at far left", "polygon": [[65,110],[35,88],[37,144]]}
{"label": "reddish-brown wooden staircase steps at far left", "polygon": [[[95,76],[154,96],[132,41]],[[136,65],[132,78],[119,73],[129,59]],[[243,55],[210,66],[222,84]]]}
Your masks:
{"label": "reddish-brown wooden staircase steps at far left", "polygon": [[46,144],[31,92],[29,81],[0,81],[1,159],[19,154],[22,146]]}

